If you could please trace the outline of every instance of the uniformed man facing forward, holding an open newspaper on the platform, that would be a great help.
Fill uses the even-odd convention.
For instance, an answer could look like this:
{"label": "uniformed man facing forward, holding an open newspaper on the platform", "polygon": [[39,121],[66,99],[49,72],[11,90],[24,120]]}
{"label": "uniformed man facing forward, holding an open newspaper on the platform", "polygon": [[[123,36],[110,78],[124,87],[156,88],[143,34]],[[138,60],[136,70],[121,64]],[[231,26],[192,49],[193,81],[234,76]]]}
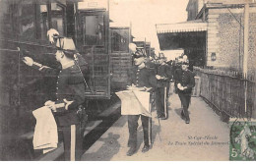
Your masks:
{"label": "uniformed man facing forward, holding an open newspaper on the platform", "polygon": [[[134,97],[124,99],[129,101],[128,104],[131,106],[122,106],[122,112],[126,112],[128,115],[128,129],[129,129],[129,140],[128,147],[130,149],[126,153],[128,156],[133,155],[137,150],[137,129],[138,120],[141,117],[143,133],[144,133],[144,146],[142,152],[147,152],[150,149],[151,143],[151,111],[150,111],[150,92],[154,89],[157,84],[154,71],[149,69],[146,64],[146,56],[136,50],[136,45],[131,43],[129,45],[130,50],[133,54],[134,67],[129,72],[130,85],[127,86],[126,91],[132,92]],[[145,94],[146,93],[146,94]],[[148,93],[148,94],[147,94]],[[141,96],[141,95],[149,96]],[[118,94],[117,94],[118,95]],[[119,96],[119,95],[118,95]],[[140,99],[140,97],[142,97]],[[148,101],[144,104],[143,99]],[[140,101],[142,100],[142,101]],[[123,100],[122,100],[123,101]],[[130,102],[131,101],[131,102]],[[136,105],[137,104],[137,105]],[[123,102],[122,102],[123,105]],[[145,108],[145,106],[148,106]],[[126,111],[123,111],[124,108]],[[128,111],[128,112],[127,112]]]}

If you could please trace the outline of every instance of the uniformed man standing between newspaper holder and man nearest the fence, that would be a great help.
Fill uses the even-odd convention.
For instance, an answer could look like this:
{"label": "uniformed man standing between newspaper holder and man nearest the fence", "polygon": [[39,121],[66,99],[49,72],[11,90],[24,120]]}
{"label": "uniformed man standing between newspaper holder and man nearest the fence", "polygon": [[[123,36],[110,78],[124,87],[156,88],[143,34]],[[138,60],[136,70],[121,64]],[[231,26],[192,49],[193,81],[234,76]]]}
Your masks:
{"label": "uniformed man standing between newspaper holder and man nearest the fence", "polygon": [[171,68],[165,63],[165,60],[165,57],[161,55],[156,75],[158,80],[158,87],[156,89],[156,105],[158,117],[161,120],[167,119],[167,88],[169,87],[169,82],[172,79]]}

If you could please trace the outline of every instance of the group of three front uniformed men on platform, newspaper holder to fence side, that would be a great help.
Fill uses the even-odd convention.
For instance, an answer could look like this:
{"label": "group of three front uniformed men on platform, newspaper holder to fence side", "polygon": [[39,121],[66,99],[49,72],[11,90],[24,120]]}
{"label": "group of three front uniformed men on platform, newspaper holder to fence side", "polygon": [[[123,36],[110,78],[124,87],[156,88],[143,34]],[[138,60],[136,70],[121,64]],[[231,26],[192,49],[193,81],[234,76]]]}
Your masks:
{"label": "group of three front uniformed men on platform, newspaper holder to fence side", "polygon": [[[183,110],[181,112],[182,119],[185,120],[186,124],[190,123],[188,107],[190,104],[192,87],[195,85],[194,74],[188,70],[189,63],[187,56],[183,55],[177,62],[170,62],[167,64],[166,58],[160,55],[156,58],[148,58],[145,53],[140,51],[137,46],[133,43],[129,45],[130,51],[133,55],[133,64],[130,71],[130,85],[127,86],[128,90],[136,91],[134,94],[135,98],[121,99],[122,101],[131,101],[126,104],[136,104],[140,101],[141,104],[147,103],[148,101],[142,101],[138,98],[138,94],[145,96],[144,92],[150,92],[154,96],[145,96],[145,98],[153,98],[155,102],[158,118],[166,120],[168,117],[167,100],[169,95],[170,82],[175,83],[175,92],[178,94]],[[125,104],[125,103],[122,103]],[[123,111],[128,115],[128,130],[129,140],[128,146],[130,147],[127,151],[127,155],[131,156],[137,151],[137,128],[138,120],[141,117],[143,133],[144,133],[144,146],[142,152],[147,152],[151,148],[151,120],[152,116],[145,114],[143,111],[144,107],[136,106],[133,110],[129,109],[129,112]],[[152,105],[151,105],[152,106]],[[132,108],[132,107],[130,107]],[[122,107],[122,110],[127,110],[126,107]],[[149,109],[151,112],[152,109]],[[141,112],[141,113],[140,113]]]}

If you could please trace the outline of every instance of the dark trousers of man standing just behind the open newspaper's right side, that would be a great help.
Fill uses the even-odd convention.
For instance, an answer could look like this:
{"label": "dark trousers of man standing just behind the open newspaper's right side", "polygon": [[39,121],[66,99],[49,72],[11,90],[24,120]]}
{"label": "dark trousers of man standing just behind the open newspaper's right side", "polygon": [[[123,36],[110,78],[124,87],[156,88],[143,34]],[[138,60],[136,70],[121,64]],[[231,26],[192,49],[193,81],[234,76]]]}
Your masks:
{"label": "dark trousers of man standing just behind the open newspaper's right side", "polygon": [[157,113],[160,117],[165,117],[164,112],[164,87],[158,87],[156,89],[156,105],[157,105]]}

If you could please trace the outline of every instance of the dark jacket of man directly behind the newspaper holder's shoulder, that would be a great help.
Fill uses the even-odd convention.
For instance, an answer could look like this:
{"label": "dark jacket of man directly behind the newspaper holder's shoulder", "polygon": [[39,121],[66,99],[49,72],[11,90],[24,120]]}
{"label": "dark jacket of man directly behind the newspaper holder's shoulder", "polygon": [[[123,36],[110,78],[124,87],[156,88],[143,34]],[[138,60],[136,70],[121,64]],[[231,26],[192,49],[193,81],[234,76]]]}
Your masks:
{"label": "dark jacket of man directly behind the newspaper holder's shoulder", "polygon": [[167,78],[166,80],[158,80],[158,87],[167,86],[168,82],[172,79],[171,67],[167,64],[161,64],[157,67],[157,75]]}

